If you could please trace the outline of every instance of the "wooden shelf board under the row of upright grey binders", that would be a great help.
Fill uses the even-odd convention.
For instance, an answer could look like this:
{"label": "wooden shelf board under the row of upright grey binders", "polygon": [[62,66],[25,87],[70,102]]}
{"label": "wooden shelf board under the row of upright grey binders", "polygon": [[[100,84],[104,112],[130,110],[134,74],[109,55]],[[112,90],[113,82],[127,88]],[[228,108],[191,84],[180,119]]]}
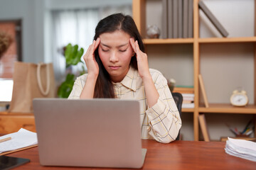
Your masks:
{"label": "wooden shelf board under the row of upright grey binders", "polygon": [[177,43],[193,43],[193,38],[169,38],[169,39],[144,39],[144,44],[177,44]]}

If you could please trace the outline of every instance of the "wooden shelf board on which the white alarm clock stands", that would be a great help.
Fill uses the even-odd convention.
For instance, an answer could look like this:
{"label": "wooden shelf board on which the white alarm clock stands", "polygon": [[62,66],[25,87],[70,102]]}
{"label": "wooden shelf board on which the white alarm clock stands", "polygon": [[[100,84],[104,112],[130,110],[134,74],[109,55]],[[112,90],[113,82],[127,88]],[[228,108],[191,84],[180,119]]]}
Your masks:
{"label": "wooden shelf board on which the white alarm clock stands", "polygon": [[209,103],[209,108],[199,106],[198,111],[200,113],[245,113],[245,114],[256,114],[256,106],[248,105],[245,107],[235,107],[229,103]]}

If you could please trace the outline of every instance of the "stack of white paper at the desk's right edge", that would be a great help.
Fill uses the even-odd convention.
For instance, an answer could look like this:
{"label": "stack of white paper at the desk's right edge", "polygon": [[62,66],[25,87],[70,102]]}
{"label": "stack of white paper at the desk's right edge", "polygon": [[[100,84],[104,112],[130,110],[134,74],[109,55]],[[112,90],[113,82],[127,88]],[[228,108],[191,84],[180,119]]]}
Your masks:
{"label": "stack of white paper at the desk's right edge", "polygon": [[228,137],[225,152],[235,157],[256,162],[256,142],[247,140],[235,140]]}

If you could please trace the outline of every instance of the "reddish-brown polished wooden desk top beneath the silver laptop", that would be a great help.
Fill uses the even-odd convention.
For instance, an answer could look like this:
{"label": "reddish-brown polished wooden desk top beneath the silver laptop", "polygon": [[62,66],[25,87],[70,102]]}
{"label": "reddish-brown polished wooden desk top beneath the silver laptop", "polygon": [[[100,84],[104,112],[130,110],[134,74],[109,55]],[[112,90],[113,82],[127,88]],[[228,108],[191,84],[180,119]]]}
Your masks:
{"label": "reddish-brown polished wooden desk top beneath the silver laptop", "polygon": [[[256,162],[230,156],[225,153],[225,142],[175,141],[161,144],[154,140],[142,140],[148,149],[143,169],[254,169]],[[8,154],[11,157],[31,159],[17,169],[75,169],[74,167],[41,166],[38,147]],[[77,168],[86,169],[86,168]]]}

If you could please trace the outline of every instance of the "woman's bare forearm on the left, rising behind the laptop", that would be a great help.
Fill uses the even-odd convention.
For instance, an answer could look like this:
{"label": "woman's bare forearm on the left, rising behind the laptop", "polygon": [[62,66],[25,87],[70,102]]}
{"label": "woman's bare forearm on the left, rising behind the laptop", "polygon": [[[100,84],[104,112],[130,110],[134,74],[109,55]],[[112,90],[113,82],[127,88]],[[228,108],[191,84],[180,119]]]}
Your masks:
{"label": "woman's bare forearm on the left, rising behind the laptop", "polygon": [[83,87],[82,93],[80,94],[80,99],[93,98],[96,81],[97,77],[90,75],[87,76],[85,86]]}

